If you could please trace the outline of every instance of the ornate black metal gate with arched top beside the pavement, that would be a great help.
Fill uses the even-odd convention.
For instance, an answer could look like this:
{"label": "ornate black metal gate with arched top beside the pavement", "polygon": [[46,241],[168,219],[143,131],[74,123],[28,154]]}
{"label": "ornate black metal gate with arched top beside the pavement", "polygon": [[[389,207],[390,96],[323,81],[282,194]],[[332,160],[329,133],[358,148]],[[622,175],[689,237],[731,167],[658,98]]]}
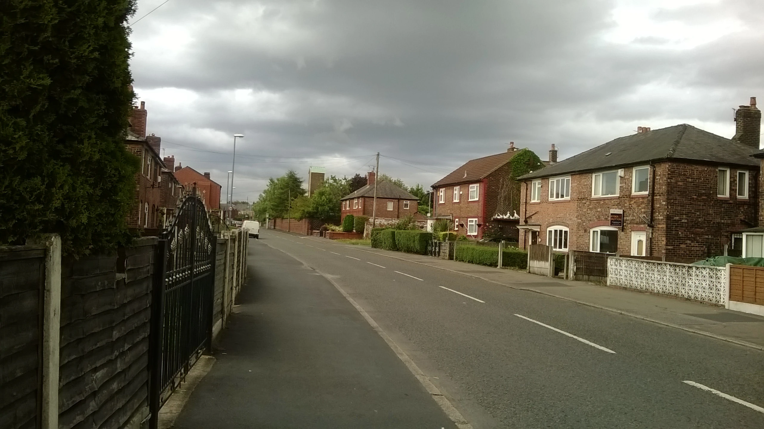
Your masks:
{"label": "ornate black metal gate with arched top beside the pavement", "polygon": [[212,339],[215,235],[202,200],[189,195],[157,246],[151,339],[151,427]]}

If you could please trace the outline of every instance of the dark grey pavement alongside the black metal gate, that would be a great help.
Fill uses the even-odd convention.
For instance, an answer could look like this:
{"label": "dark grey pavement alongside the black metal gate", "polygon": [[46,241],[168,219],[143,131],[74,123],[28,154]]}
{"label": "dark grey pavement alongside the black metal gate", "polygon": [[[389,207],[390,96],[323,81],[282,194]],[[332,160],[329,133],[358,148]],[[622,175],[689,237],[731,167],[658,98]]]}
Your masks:
{"label": "dark grey pavement alongside the black metal gate", "polygon": [[173,427],[456,427],[331,282],[262,241],[250,247],[217,362]]}

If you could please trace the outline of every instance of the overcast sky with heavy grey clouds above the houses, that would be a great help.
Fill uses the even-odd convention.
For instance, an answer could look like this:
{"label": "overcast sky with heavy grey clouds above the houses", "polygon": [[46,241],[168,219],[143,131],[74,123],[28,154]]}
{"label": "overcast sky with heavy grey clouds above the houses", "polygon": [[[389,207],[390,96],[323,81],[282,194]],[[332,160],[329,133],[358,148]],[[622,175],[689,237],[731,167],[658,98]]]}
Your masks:
{"label": "overcast sky with heavy grey clouds above the houses", "polygon": [[[139,0],[138,20],[164,0]],[[667,6],[669,5],[669,6]],[[147,132],[235,199],[309,166],[429,187],[514,141],[560,159],[764,105],[759,0],[170,0],[133,26]]]}

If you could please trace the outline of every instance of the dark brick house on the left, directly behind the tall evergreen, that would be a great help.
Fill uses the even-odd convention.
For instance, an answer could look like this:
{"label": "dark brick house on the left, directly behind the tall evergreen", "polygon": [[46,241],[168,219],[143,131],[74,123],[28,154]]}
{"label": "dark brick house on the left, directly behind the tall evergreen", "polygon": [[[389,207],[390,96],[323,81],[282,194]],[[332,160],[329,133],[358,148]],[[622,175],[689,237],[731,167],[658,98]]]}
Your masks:
{"label": "dark brick house on the left, directly behind the tall evergreen", "polygon": [[159,156],[161,139],[146,136],[147,111],[145,102],[133,107],[129,129],[125,133],[125,146],[141,160],[141,169],[135,174],[135,205],[128,215],[128,227],[154,229],[162,227],[159,216],[161,169],[164,164]]}

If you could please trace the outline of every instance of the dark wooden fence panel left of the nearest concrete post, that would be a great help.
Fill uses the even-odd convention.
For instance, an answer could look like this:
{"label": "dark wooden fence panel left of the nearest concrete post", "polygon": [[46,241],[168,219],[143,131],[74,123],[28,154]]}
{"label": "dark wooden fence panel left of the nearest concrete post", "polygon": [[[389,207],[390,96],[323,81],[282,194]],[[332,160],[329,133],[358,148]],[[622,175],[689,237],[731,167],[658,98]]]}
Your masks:
{"label": "dark wooden fence panel left of the nearest concrete post", "polygon": [[40,427],[44,247],[0,247],[0,427]]}

